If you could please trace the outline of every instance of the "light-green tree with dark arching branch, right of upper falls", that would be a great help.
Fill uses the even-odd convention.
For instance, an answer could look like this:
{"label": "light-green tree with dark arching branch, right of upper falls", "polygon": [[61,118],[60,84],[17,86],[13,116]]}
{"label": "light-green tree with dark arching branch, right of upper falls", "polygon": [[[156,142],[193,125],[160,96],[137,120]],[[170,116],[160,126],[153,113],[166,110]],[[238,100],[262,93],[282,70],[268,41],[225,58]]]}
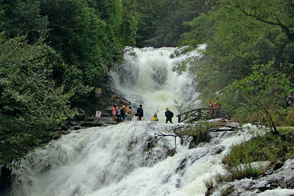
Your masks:
{"label": "light-green tree with dark arching branch, right of upper falls", "polygon": [[[198,80],[201,91],[203,86],[222,90],[248,76],[253,65],[273,58],[278,64],[289,62],[281,72],[293,76],[292,16],[290,1],[218,1],[207,14],[184,22],[191,31],[182,35],[182,42],[206,43],[207,47],[203,56],[191,57],[180,71],[203,74],[205,82]],[[293,81],[293,77],[290,79]]]}

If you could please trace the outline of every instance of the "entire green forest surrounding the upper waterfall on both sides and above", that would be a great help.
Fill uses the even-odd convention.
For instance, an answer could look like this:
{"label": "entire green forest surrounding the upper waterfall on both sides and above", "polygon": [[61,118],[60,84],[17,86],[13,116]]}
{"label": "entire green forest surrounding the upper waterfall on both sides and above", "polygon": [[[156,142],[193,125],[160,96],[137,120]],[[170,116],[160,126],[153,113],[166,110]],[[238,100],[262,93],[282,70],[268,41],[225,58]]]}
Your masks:
{"label": "entire green forest surrounding the upper waterfall on both sides and above", "polygon": [[[272,83],[279,87],[272,103],[293,90],[293,24],[292,0],[0,0],[0,165],[17,167],[54,138],[71,108],[123,61],[124,46],[206,43],[178,73],[198,75],[203,100],[218,95],[252,120],[261,110],[242,92],[264,98],[246,91],[259,82],[252,78],[261,78],[256,87],[267,95],[267,76],[282,77]],[[263,120],[292,119],[283,105],[264,109],[279,113]]]}

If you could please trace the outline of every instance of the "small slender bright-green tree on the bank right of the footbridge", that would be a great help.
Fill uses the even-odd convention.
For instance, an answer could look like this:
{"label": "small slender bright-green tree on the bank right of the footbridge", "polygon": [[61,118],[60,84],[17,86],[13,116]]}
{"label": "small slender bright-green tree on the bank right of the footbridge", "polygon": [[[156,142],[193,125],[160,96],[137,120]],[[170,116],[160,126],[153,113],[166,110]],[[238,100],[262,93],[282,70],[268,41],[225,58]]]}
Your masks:
{"label": "small slender bright-green tree on the bank right of the footbridge", "polygon": [[238,93],[252,105],[258,108],[268,124],[272,134],[278,134],[280,120],[274,118],[279,115],[281,106],[290,92],[290,82],[285,74],[274,69],[274,63],[255,65],[250,76],[244,77],[232,85],[233,91]]}

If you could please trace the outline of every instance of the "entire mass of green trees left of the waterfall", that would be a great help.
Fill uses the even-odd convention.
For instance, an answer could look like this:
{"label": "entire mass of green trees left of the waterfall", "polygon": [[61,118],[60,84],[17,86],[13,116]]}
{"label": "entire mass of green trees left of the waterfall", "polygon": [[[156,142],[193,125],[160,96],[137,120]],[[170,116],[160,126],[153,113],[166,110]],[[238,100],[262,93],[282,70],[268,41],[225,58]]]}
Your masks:
{"label": "entire mass of green trees left of the waterfall", "polygon": [[0,2],[0,165],[17,167],[123,61],[136,21],[124,0]]}

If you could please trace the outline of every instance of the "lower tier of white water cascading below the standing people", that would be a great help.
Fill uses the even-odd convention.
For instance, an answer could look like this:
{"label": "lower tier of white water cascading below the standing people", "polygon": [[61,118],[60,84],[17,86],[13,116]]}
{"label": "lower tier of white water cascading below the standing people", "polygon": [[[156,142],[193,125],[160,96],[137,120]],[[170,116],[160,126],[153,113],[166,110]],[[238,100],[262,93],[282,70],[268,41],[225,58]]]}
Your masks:
{"label": "lower tier of white water cascading below the standing people", "polygon": [[167,157],[173,137],[151,145],[154,133],[166,133],[165,126],[170,125],[135,121],[63,136],[55,143],[58,150],[39,151],[31,163],[23,162],[13,172],[11,195],[203,195],[202,180],[220,170],[216,152],[227,150],[241,136],[224,135],[191,150],[177,139],[177,153]]}

